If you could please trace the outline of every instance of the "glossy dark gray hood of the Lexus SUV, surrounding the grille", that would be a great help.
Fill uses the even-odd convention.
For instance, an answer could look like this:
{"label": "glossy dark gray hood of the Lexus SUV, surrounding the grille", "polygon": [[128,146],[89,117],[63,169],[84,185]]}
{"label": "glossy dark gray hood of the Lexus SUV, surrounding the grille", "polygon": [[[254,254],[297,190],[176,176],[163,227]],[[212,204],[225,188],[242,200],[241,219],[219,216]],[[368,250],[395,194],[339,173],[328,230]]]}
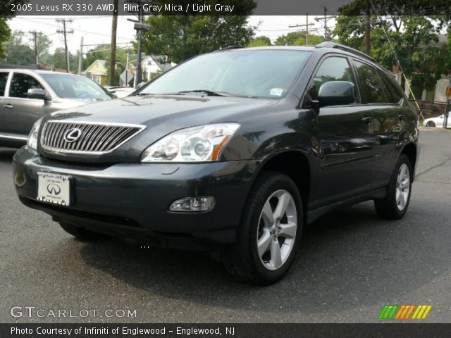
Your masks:
{"label": "glossy dark gray hood of the Lexus SUV, surrounding the grille", "polygon": [[114,123],[142,125],[145,129],[109,154],[65,154],[41,151],[44,155],[66,161],[136,162],[147,146],[175,130],[221,122],[240,123],[242,113],[275,104],[275,100],[228,96],[127,96],[52,113],[44,118],[70,123]]}

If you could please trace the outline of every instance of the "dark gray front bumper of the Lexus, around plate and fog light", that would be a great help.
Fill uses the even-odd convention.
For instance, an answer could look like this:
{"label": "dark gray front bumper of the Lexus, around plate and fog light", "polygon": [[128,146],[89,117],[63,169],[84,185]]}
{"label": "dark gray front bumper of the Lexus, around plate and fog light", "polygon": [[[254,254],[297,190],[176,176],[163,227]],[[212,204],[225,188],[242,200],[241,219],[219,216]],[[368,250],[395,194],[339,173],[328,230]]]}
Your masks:
{"label": "dark gray front bumper of the Lexus, around plate and fog light", "polygon": [[[54,161],[24,146],[13,158],[20,201],[90,230],[156,246],[215,246],[235,240],[257,161],[86,165]],[[37,201],[37,173],[71,177],[71,204]],[[176,199],[214,196],[204,213],[171,213]]]}

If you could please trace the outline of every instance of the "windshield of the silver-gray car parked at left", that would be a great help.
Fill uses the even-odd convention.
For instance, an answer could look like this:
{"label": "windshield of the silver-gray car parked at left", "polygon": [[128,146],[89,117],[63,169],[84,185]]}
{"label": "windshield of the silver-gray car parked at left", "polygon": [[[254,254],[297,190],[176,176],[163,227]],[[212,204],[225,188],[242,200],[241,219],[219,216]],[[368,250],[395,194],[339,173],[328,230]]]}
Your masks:
{"label": "windshield of the silver-gray car parked at left", "polygon": [[61,74],[42,74],[42,77],[54,89],[56,95],[61,99],[94,99],[109,100],[113,96],[106,89],[87,77],[61,75]]}

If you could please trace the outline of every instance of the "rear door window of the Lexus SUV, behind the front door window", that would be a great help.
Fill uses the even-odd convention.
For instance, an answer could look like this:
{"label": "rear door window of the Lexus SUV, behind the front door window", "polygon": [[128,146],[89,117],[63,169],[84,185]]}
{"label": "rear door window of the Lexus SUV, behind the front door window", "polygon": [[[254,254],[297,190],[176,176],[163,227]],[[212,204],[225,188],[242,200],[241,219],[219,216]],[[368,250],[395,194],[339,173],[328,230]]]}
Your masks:
{"label": "rear door window of the Lexus SUV, behind the front door window", "polygon": [[354,61],[357,68],[357,75],[362,84],[362,94],[368,104],[384,104],[386,102],[383,83],[376,68]]}

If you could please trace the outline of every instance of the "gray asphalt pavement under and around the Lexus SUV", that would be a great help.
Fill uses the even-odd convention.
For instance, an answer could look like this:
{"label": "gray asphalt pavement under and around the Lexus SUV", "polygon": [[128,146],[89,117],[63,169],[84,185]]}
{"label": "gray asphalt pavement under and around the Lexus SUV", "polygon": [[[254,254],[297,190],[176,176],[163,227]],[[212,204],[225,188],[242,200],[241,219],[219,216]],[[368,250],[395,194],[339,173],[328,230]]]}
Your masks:
{"label": "gray asphalt pavement under and around the Lexus SUV", "polygon": [[[371,323],[385,304],[432,305],[424,322],[451,323],[451,132],[422,129],[420,141],[402,220],[382,220],[371,202],[320,218],[269,287],[235,282],[208,253],[73,239],[20,204],[15,150],[0,148],[0,323]],[[13,317],[14,306],[44,317]],[[58,310],[76,316],[54,318]]]}

